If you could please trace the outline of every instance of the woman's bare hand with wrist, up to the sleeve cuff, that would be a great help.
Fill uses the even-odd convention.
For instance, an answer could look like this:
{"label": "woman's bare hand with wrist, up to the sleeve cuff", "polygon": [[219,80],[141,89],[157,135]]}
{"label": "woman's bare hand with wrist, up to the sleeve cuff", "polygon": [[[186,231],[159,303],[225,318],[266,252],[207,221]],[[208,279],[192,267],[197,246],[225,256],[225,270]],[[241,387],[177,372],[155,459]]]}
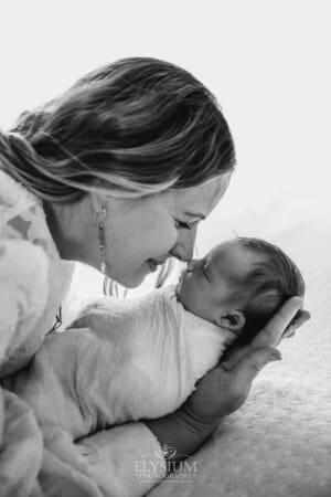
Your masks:
{"label": "woman's bare hand with wrist, up to the sleeve cuff", "polygon": [[161,445],[174,446],[179,458],[180,454],[189,455],[213,432],[221,417],[236,411],[258,372],[268,362],[281,359],[275,347],[289,331],[288,325],[292,335],[309,319],[309,313],[301,310],[292,321],[301,306],[300,297],[290,298],[249,345],[232,347],[178,411],[147,421]]}

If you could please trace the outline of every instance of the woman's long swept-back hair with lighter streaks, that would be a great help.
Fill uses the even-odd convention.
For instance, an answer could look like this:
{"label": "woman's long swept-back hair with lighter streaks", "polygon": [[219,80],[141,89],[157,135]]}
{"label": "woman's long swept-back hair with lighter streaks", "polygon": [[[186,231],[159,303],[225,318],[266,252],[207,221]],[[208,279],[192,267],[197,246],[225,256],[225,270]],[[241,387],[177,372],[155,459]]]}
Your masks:
{"label": "woman's long swept-back hair with lighter streaks", "polygon": [[183,68],[150,57],[104,65],[0,133],[0,168],[51,202],[89,191],[140,197],[190,188],[234,165],[233,139],[211,92]]}

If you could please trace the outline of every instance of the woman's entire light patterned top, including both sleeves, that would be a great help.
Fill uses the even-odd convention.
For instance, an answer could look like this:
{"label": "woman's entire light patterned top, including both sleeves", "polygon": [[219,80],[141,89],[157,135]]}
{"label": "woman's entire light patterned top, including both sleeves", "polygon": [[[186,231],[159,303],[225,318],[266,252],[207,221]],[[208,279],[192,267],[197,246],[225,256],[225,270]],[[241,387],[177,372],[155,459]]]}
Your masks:
{"label": "woman's entire light patterned top, including both sleeves", "polygon": [[[25,366],[52,330],[72,273],[73,264],[61,260],[52,240],[42,202],[0,165],[0,378]],[[77,442],[84,470],[77,469],[73,451],[61,470],[55,459],[42,458],[40,436],[28,404],[0,388],[1,495],[13,495],[14,488],[15,495],[49,496],[56,487],[58,495],[141,497],[166,476],[162,448],[145,423],[126,423]],[[157,470],[141,480],[135,468],[147,456]],[[41,468],[43,493],[35,479]]]}

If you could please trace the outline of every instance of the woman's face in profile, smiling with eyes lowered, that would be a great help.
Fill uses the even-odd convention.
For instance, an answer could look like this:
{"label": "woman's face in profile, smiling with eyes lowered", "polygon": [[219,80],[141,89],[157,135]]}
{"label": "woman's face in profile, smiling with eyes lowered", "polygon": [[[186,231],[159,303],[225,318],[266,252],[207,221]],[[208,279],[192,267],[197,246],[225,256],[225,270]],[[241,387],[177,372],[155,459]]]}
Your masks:
{"label": "woman's face in profile, smiling with eyes lowered", "polygon": [[170,256],[191,260],[197,224],[220,202],[229,178],[138,199],[108,198],[106,274],[135,287]]}

